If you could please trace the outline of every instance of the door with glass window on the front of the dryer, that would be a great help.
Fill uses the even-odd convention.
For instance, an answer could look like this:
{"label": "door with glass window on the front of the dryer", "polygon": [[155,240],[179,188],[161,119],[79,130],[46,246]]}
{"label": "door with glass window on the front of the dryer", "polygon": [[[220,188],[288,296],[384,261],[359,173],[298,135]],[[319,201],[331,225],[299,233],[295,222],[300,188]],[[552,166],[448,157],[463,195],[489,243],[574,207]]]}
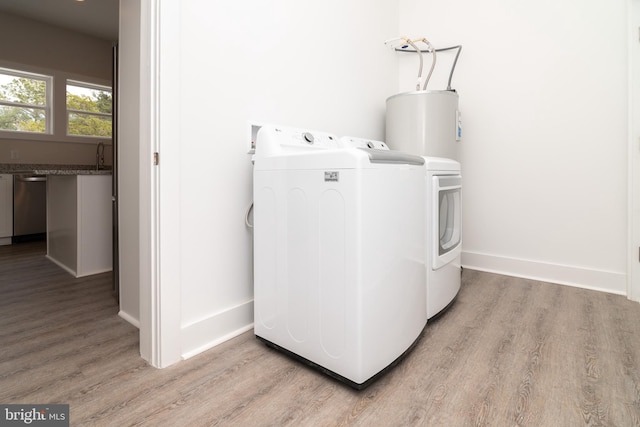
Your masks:
{"label": "door with glass window on the front of the dryer", "polygon": [[459,176],[434,176],[433,194],[436,221],[433,222],[433,268],[453,261],[462,243],[462,184]]}

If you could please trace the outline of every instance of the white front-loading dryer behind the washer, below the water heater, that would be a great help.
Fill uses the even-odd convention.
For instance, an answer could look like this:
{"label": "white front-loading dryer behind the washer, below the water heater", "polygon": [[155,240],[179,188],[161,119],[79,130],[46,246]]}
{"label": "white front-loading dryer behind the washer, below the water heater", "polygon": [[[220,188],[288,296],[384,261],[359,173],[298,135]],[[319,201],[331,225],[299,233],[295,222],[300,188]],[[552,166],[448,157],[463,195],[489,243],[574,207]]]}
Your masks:
{"label": "white front-loading dryer behind the washer, below the water heater", "polygon": [[427,318],[442,312],[460,290],[462,175],[460,163],[425,157]]}

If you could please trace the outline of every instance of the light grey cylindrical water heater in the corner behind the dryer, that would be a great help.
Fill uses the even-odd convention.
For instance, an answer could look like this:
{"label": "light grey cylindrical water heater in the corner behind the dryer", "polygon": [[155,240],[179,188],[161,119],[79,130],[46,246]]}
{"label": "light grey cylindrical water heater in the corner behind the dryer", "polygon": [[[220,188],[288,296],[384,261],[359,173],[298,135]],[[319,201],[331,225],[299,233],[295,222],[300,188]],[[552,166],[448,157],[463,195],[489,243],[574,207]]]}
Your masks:
{"label": "light grey cylindrical water heater in the corner behind the dryer", "polygon": [[458,94],[421,90],[387,99],[386,142],[393,150],[460,161]]}

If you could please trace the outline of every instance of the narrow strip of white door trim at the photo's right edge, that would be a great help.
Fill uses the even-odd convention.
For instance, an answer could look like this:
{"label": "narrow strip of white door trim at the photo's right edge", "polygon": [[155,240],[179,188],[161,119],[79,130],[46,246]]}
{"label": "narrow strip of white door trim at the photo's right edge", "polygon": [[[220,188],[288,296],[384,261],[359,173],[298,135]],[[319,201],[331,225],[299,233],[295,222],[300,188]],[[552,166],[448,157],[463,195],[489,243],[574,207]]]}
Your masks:
{"label": "narrow strip of white door trim at the photo's right edge", "polygon": [[640,302],[640,0],[628,0],[629,155],[627,296]]}

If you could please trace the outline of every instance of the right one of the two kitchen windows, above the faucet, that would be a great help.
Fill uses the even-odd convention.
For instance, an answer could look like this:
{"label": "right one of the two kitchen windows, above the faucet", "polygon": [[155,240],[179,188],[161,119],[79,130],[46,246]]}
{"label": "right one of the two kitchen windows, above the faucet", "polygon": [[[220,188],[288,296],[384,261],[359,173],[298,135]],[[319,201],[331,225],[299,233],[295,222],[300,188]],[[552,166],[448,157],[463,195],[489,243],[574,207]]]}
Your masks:
{"label": "right one of the two kitchen windows, above the faucet", "polygon": [[111,138],[111,88],[67,80],[67,135]]}

